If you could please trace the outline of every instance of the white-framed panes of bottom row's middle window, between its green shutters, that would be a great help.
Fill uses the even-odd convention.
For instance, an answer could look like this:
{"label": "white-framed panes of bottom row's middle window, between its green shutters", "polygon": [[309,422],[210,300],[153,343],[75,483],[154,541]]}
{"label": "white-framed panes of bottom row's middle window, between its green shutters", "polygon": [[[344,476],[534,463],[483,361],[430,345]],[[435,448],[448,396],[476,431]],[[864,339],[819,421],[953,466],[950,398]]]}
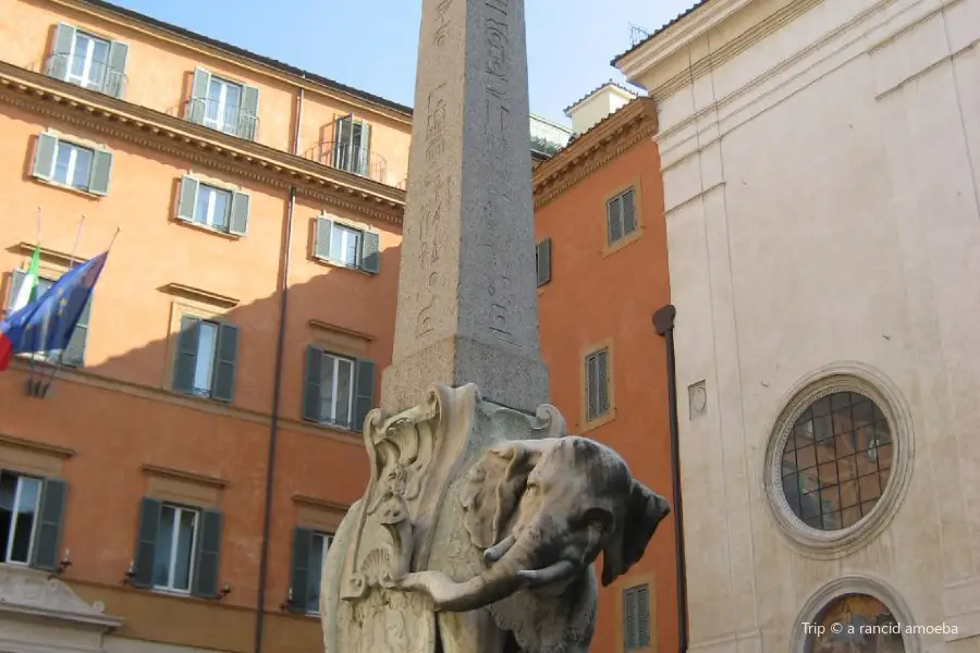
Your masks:
{"label": "white-framed panes of bottom row's middle window, between its green shutters", "polygon": [[154,558],[155,588],[191,591],[197,519],[197,510],[167,504],[161,507]]}

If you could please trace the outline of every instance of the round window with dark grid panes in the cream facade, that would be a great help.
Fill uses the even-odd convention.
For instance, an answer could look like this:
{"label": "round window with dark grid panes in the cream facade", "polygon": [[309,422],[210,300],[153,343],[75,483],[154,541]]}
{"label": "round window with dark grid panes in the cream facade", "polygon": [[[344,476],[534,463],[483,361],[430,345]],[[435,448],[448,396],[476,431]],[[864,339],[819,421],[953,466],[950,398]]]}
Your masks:
{"label": "round window with dark grid panes in the cream facade", "polygon": [[810,528],[846,529],[878,504],[892,470],[892,431],[881,408],[856,392],[812,402],[782,451],[789,509]]}

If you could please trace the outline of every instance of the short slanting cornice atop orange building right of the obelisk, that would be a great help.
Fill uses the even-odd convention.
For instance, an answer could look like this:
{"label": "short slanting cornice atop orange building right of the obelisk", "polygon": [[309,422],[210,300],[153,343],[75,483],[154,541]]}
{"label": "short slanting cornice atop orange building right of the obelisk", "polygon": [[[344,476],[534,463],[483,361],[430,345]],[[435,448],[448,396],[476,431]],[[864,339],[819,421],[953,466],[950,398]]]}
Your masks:
{"label": "short slanting cornice atop orange building right of the obelisk", "polygon": [[657,106],[653,100],[633,100],[535,169],[535,208],[548,204],[656,133]]}

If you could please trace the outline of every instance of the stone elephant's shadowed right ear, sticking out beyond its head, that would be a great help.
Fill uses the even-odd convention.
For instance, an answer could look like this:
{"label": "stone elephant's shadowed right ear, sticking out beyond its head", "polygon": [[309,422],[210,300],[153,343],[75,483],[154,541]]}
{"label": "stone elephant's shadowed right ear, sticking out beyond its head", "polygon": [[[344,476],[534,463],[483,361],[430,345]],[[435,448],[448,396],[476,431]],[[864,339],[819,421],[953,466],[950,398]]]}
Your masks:
{"label": "stone elephant's shadowed right ear, sticking out beyond its head", "polygon": [[659,494],[636,480],[629,482],[629,496],[622,520],[602,550],[602,587],[629,570],[644,556],[657,526],[671,512]]}

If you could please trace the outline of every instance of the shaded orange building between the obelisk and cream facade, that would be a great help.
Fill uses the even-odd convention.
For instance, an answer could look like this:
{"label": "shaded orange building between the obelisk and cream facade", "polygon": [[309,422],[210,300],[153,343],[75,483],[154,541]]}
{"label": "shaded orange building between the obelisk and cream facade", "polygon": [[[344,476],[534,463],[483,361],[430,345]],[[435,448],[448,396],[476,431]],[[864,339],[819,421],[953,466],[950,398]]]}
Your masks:
{"label": "shaded orange building between the obelisk and cream facade", "polygon": [[[607,84],[573,106],[576,135],[535,169],[541,352],[568,431],[670,497],[667,361],[651,324],[670,303],[657,114],[624,95]],[[674,517],[600,591],[596,653],[677,650]]]}

